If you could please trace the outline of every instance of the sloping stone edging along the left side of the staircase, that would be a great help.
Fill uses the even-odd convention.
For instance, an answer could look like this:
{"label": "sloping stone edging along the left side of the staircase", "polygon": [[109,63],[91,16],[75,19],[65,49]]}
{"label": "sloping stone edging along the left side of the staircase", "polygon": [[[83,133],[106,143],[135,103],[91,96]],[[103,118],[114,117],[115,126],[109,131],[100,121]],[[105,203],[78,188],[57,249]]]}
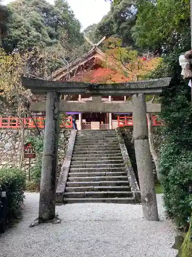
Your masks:
{"label": "sloping stone edging along the left side of the staircase", "polygon": [[63,194],[65,193],[65,189],[66,189],[66,183],[67,183],[69,168],[70,168],[70,164],[71,164],[71,158],[72,158],[72,154],[73,154],[73,148],[74,148],[74,144],[75,144],[76,134],[77,134],[76,130],[71,131],[69,144],[68,144],[68,150],[67,150],[64,162],[62,164],[62,168],[60,171],[60,177],[59,177],[59,181],[58,181],[58,185],[57,185],[56,203],[62,203],[62,201],[63,201]]}

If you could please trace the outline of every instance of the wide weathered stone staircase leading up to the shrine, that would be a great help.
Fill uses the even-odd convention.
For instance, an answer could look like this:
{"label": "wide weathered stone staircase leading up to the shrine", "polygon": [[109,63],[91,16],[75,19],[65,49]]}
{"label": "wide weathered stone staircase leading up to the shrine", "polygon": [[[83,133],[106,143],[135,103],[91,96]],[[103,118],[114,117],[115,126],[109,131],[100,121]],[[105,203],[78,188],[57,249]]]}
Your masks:
{"label": "wide weathered stone staircase leading up to the shrine", "polygon": [[115,130],[77,132],[63,202],[134,203]]}

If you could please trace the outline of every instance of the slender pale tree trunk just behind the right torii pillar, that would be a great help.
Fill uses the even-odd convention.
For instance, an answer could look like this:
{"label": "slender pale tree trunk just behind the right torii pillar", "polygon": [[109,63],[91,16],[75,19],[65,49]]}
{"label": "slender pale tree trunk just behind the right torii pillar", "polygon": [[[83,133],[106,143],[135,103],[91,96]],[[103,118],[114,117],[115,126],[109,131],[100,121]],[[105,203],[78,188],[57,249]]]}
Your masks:
{"label": "slender pale tree trunk just behind the right torii pillar", "polygon": [[160,181],[161,176],[160,176],[160,169],[159,169],[159,157],[155,150],[153,133],[152,133],[152,115],[147,113],[147,119],[148,119],[148,141],[150,142],[150,151],[151,151],[151,155],[153,157],[154,163],[155,163],[157,179],[158,179],[158,181]]}

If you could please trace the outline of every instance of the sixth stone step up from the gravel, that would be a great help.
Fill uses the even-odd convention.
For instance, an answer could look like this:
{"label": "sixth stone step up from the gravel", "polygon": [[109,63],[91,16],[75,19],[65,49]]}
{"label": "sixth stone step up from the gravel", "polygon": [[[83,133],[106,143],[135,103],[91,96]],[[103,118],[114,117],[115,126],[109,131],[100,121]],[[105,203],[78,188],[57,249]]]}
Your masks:
{"label": "sixth stone step up from the gravel", "polygon": [[126,176],[127,173],[124,172],[69,172],[69,177],[97,177],[97,176],[110,176],[110,177],[116,177],[116,176]]}

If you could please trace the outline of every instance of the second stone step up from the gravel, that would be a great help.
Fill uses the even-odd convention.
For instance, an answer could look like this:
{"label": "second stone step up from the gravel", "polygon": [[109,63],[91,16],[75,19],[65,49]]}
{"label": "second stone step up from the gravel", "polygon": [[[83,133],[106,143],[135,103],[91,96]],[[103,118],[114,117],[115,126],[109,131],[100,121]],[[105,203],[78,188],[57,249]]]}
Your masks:
{"label": "second stone step up from the gravel", "polygon": [[65,198],[106,198],[106,197],[132,197],[132,192],[129,191],[88,191],[88,192],[67,192]]}

